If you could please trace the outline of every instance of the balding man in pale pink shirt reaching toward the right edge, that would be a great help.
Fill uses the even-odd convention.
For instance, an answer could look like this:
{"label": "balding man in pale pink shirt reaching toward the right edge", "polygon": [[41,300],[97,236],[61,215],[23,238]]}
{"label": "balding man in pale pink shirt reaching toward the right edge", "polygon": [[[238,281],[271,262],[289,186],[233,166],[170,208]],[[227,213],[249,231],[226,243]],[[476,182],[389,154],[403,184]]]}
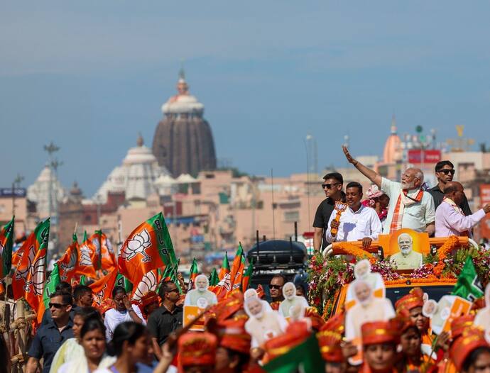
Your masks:
{"label": "balding man in pale pink shirt reaching toward the right edge", "polygon": [[472,236],[471,230],[486,213],[490,213],[490,204],[472,215],[464,216],[459,205],[464,200],[464,188],[459,182],[447,182],[444,188],[444,199],[435,211],[435,237],[450,235]]}

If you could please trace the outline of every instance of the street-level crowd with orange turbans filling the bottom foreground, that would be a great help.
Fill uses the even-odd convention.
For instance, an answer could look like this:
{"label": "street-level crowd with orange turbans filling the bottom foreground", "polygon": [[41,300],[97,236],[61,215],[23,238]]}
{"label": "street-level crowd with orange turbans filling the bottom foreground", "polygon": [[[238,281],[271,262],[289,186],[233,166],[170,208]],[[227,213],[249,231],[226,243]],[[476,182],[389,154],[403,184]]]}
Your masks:
{"label": "street-level crowd with orange turbans filling the bottom foreground", "polygon": [[[369,273],[362,263],[356,271],[357,280]],[[190,331],[192,324],[183,328],[184,298],[171,281],[161,284],[158,296],[145,294],[137,312],[119,286],[110,301],[94,308],[89,287],[70,289],[60,283],[50,295],[50,316],[31,342],[26,372],[268,372],[268,364],[294,353],[312,336],[322,362],[305,372],[490,372],[490,345],[484,329],[474,323],[475,314],[486,317],[481,306],[490,303],[490,286],[485,301],[475,301],[472,312],[454,318],[449,332],[434,335],[420,288],[393,308],[376,301],[366,284],[359,282],[353,289],[364,307],[361,313],[352,308],[325,321],[278,274],[268,284],[269,302],[261,288],[244,293],[236,289],[203,313],[205,331]],[[376,320],[380,308],[386,314]],[[359,345],[346,333],[351,324],[359,329]],[[0,371],[9,372],[3,338],[0,343]],[[355,360],[359,353],[360,364]],[[298,354],[297,365],[276,372],[296,372],[302,359],[315,360],[312,351]]]}

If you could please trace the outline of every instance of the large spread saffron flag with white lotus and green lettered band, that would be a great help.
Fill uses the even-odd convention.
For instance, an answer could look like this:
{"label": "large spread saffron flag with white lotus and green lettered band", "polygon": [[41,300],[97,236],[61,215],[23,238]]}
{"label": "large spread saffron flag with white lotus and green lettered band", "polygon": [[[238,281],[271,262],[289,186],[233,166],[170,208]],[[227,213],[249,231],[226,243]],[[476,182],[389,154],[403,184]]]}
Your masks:
{"label": "large spread saffron flag with white lotus and green lettered band", "polygon": [[170,233],[160,212],[131,232],[121,247],[118,266],[121,274],[138,284],[151,269],[164,265],[173,267],[178,264]]}

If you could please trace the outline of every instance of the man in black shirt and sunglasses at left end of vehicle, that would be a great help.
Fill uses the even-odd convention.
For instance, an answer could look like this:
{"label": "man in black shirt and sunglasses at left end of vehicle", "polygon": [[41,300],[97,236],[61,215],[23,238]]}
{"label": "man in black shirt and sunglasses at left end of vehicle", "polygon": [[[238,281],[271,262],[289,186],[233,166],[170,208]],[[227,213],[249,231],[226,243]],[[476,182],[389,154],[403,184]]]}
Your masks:
{"label": "man in black shirt and sunglasses at left end of vehicle", "polygon": [[325,191],[327,199],[324,199],[318,206],[317,212],[315,213],[315,221],[313,221],[313,228],[315,228],[313,247],[315,251],[327,246],[325,231],[328,229],[328,221],[330,215],[332,215],[332,211],[334,211],[335,202],[345,202],[345,194],[342,191],[342,185],[344,184],[342,175],[338,172],[332,172],[326,174],[323,180],[322,189]]}

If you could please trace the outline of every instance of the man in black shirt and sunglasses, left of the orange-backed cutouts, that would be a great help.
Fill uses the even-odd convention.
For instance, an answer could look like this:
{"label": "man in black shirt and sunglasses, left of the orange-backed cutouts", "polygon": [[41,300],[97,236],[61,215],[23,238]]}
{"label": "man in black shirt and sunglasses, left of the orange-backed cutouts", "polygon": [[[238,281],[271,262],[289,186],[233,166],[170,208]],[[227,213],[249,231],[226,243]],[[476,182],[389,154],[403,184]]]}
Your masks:
{"label": "man in black shirt and sunglasses, left of the orange-backed cutouts", "polygon": [[153,350],[160,360],[162,357],[161,345],[165,343],[170,333],[182,327],[183,308],[175,306],[180,299],[180,293],[172,281],[166,281],[160,285],[158,296],[162,299],[163,304],[148,317],[147,327],[151,335]]}

